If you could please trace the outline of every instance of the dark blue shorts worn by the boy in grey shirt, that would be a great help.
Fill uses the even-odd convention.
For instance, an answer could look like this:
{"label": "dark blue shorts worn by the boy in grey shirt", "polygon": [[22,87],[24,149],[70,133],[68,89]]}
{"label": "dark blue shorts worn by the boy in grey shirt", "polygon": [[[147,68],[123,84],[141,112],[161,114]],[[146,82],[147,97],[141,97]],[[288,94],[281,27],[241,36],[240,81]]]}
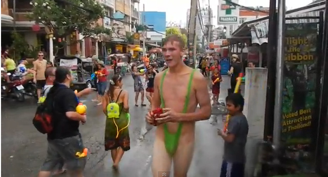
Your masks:
{"label": "dark blue shorts worn by the boy in grey shirt", "polygon": [[220,177],[244,177],[245,164],[223,160]]}

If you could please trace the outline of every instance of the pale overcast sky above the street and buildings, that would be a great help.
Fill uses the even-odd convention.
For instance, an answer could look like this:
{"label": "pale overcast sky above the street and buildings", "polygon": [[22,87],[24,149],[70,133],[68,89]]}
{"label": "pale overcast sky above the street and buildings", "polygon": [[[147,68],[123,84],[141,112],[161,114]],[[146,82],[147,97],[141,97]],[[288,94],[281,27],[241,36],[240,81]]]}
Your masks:
{"label": "pale overcast sky above the street and buildings", "polygon": [[[208,5],[208,0],[199,0],[202,7]],[[269,0],[239,0],[239,4],[243,6],[263,6],[269,7]],[[303,7],[312,2],[312,0],[286,0],[288,10]],[[166,12],[166,21],[186,24],[187,9],[190,8],[190,0],[140,0],[140,11],[159,11]],[[216,25],[218,0],[210,0],[210,6],[215,16],[212,20]]]}

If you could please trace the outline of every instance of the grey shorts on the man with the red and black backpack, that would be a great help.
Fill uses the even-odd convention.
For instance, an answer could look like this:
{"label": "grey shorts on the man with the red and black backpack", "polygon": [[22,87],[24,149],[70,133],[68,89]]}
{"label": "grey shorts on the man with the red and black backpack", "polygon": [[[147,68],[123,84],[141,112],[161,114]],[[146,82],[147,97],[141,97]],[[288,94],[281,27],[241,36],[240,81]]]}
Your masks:
{"label": "grey shorts on the man with the red and black backpack", "polygon": [[76,156],[76,153],[82,153],[83,149],[84,146],[80,136],[48,140],[47,158],[41,167],[41,171],[53,171],[63,163],[70,171],[83,170],[86,157],[79,158]]}

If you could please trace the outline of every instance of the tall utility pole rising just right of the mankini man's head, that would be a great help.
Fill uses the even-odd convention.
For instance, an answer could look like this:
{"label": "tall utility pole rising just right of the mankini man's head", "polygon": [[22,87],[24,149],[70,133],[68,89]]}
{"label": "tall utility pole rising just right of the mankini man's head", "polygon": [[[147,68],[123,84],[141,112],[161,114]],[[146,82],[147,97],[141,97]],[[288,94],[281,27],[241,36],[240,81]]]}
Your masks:
{"label": "tall utility pole rising just right of the mankini man's head", "polygon": [[[197,15],[198,4],[197,0],[191,0],[190,3],[190,15],[189,15],[189,28],[188,28],[188,54],[189,62],[191,67],[195,67],[196,61],[196,15]],[[192,48],[190,47],[192,46]]]}

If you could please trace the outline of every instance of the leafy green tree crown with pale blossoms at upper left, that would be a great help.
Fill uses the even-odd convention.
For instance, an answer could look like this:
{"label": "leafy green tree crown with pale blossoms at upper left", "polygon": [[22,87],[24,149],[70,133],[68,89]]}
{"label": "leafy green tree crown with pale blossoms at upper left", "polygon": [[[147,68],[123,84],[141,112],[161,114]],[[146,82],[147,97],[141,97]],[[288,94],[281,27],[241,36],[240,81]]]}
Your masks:
{"label": "leafy green tree crown with pale blossoms at upper left", "polygon": [[[32,0],[31,20],[53,29],[54,37],[65,38],[78,31],[85,37],[111,34],[97,24],[104,9],[96,0]],[[63,41],[64,42],[64,41]]]}

